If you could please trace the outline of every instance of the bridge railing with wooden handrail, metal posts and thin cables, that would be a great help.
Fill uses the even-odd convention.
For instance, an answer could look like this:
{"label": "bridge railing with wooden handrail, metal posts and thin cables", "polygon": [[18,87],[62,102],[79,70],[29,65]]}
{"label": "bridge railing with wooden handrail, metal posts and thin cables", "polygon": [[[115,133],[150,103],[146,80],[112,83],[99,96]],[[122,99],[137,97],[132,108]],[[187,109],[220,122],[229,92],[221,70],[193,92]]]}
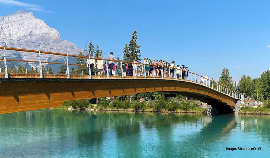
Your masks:
{"label": "bridge railing with wooden handrail, metal posts and thin cables", "polygon": [[[11,47],[10,44],[13,44],[13,47]],[[131,71],[131,64],[138,64],[139,66],[141,66],[141,68],[145,68],[148,65],[153,67],[153,71],[157,70],[157,68],[155,68],[155,65],[153,64],[127,62],[122,60],[109,60],[107,59],[107,56],[106,58],[95,58],[90,57],[89,55],[83,56],[82,53],[80,55],[75,55],[83,51],[78,50],[77,48],[67,48],[59,46],[57,48],[51,48],[49,45],[38,43],[34,43],[32,46],[29,46],[27,42],[22,42],[17,45],[18,47],[25,45],[25,48],[27,49],[15,48],[14,43],[7,42],[6,39],[3,42],[3,40],[0,39],[0,50],[2,50],[2,53],[0,53],[0,72],[3,76],[1,77],[0,75],[0,78],[15,78],[17,72],[20,73],[19,75],[23,75],[25,73],[33,74],[33,78],[50,78],[50,75],[53,75],[55,77],[54,73],[57,73],[58,76],[61,77],[62,75],[62,77],[65,78],[71,78],[71,75],[73,75],[72,78],[92,79],[93,76],[95,76],[95,78],[97,78],[98,76],[106,76],[107,79],[110,79],[113,77],[108,75],[110,69],[109,65],[107,64],[108,62],[116,62],[116,65],[118,65],[119,67],[115,67],[115,75],[121,76],[122,79],[124,79],[125,77],[122,75],[124,72],[122,67],[123,63],[129,64],[128,71],[131,74],[133,74],[133,71]],[[91,65],[89,66],[86,62],[87,60],[94,60],[95,64],[98,60],[106,62],[106,64],[104,64],[105,67],[102,71],[102,74],[98,75],[97,67],[94,68]],[[18,65],[21,66],[21,69],[18,68]],[[31,67],[31,69],[29,69],[29,67]],[[15,70],[14,68],[20,70]],[[162,65],[161,68],[167,67]],[[52,72],[57,69],[59,69],[57,72]],[[235,92],[233,89],[229,89],[222,84],[215,82],[213,79],[208,78],[201,73],[198,73],[195,70],[181,70],[179,77],[177,78],[178,75],[176,75],[176,69],[179,69],[179,67],[168,69],[169,70],[167,72],[162,71],[160,73],[160,76],[157,76],[154,72],[153,75],[149,77],[149,74],[147,74],[146,76],[146,73],[143,73],[143,71],[141,70],[139,70],[139,72],[143,73],[142,76],[137,76],[136,73],[136,75],[134,76],[129,76],[132,76],[130,77],[130,79],[158,79],[191,82],[194,84],[199,84],[201,86],[206,86],[233,98],[243,99],[243,94],[239,94],[239,92]],[[165,75],[171,72],[174,72],[173,76],[170,76],[170,74]],[[44,76],[44,74],[46,75]],[[80,75],[76,76],[75,74]]]}

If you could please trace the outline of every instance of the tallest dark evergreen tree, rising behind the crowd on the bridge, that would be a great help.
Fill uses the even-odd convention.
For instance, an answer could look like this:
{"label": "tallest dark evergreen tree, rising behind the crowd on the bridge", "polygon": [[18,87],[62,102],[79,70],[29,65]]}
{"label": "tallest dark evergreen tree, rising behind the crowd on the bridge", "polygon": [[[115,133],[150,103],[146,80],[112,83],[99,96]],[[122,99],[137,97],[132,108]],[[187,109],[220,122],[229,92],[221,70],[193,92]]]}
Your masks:
{"label": "tallest dark evergreen tree, rising behind the crowd on the bridge", "polygon": [[135,30],[134,33],[132,34],[131,40],[129,42],[128,46],[128,52],[126,51],[126,46],[124,48],[124,61],[128,62],[134,62],[136,59],[137,62],[141,62],[141,54],[140,54],[140,49],[141,46],[137,44],[137,31]]}

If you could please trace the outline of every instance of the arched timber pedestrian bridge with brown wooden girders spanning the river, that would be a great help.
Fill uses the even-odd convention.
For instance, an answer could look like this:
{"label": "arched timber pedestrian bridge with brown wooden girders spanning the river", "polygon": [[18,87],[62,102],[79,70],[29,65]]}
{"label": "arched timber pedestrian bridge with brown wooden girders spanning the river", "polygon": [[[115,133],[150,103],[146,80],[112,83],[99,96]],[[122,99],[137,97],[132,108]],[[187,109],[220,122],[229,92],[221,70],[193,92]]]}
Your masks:
{"label": "arched timber pedestrian bridge with brown wooden girders spanning the river", "polygon": [[[0,73],[0,114],[60,107],[67,100],[131,95],[144,92],[180,94],[207,102],[220,113],[228,113],[235,109],[235,103],[243,97],[241,94],[235,93],[233,89],[214,82],[213,79],[205,78],[205,84],[199,82],[204,76],[192,71],[188,71],[189,75],[186,78],[182,76],[181,79],[157,76],[145,77],[145,74],[144,76],[98,76],[91,74],[89,68],[87,69],[88,74],[83,74],[83,71],[81,74],[70,74],[71,66],[81,68],[81,70],[83,70],[83,67],[86,68],[87,65],[77,63],[78,61],[90,59],[90,57],[73,55],[70,53],[72,52],[71,48],[66,48],[64,50],[66,53],[63,53],[63,50],[59,53],[52,52],[53,49],[45,47],[45,44],[44,46],[43,44],[36,44],[31,46],[31,49],[21,49],[8,47],[8,43],[11,42],[5,40],[0,44],[0,67],[4,63]],[[75,49],[73,52],[76,52]],[[14,57],[14,54],[19,53],[22,54],[22,57]],[[53,62],[47,60],[47,58],[54,59],[56,57],[60,57],[57,58],[59,60],[53,60]],[[107,63],[108,61],[114,61],[121,63],[121,65],[122,63],[135,63],[101,58],[92,59],[105,60]],[[18,68],[18,65],[24,64],[26,68],[36,64],[39,73],[8,72],[8,69]],[[50,67],[55,66],[55,68],[64,65],[66,73],[49,74],[42,72],[42,65],[48,67],[49,64]],[[151,65],[137,64],[142,67]],[[27,71],[25,70],[25,72]],[[122,68],[119,69],[119,74],[123,74]]]}

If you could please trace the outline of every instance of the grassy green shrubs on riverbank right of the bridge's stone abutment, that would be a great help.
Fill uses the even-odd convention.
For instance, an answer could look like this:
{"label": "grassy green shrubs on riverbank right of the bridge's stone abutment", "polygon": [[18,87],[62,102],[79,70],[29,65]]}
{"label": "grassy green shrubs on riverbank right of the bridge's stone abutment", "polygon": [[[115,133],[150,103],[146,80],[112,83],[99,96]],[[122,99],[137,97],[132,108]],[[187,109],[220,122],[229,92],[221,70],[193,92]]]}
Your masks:
{"label": "grassy green shrubs on riverbank right of the bridge's stone abutment", "polygon": [[266,100],[263,106],[257,108],[245,106],[241,108],[239,114],[270,114],[270,100]]}

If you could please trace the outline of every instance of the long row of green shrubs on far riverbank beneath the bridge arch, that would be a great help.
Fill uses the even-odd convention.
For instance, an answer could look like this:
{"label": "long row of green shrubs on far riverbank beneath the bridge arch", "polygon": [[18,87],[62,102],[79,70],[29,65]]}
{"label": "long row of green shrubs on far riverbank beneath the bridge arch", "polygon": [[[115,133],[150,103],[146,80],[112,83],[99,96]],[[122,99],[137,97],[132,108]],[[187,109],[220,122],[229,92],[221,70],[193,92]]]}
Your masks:
{"label": "long row of green shrubs on far riverbank beneath the bridge arch", "polygon": [[160,98],[158,100],[135,101],[133,103],[115,98],[111,103],[106,98],[98,98],[97,105],[89,104],[87,100],[65,101],[60,108],[79,108],[93,110],[116,110],[116,111],[147,111],[147,112],[191,112],[203,113],[205,108],[198,107],[199,102],[188,102],[175,98]]}

